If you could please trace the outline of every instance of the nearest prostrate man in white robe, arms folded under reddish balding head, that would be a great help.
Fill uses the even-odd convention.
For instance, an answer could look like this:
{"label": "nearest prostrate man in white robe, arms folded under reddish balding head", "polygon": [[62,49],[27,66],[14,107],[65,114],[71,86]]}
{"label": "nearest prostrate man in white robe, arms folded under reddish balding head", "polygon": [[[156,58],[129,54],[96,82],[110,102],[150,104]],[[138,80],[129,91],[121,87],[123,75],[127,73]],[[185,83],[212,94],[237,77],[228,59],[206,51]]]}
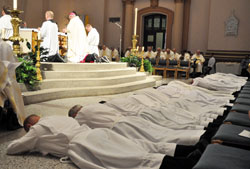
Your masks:
{"label": "nearest prostrate man in white robe, arms folded under reddish balding head", "polygon": [[149,152],[112,130],[80,126],[71,117],[31,115],[25,119],[24,128],[28,133],[11,142],[7,154],[32,151],[67,156],[81,169],[155,169],[160,167],[165,156]]}

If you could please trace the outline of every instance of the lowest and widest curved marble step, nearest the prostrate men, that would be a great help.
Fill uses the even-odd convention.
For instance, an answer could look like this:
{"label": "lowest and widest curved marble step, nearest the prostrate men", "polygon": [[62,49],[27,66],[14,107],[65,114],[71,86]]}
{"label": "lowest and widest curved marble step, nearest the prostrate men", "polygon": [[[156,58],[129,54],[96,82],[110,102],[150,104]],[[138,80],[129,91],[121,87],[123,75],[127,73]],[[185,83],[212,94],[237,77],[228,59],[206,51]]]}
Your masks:
{"label": "lowest and widest curved marble step, nearest the prostrate men", "polygon": [[22,95],[24,99],[24,104],[28,105],[61,98],[125,93],[147,87],[153,87],[155,86],[155,84],[156,81],[154,78],[147,77],[144,80],[116,85],[75,88],[51,88],[32,92],[23,92]]}

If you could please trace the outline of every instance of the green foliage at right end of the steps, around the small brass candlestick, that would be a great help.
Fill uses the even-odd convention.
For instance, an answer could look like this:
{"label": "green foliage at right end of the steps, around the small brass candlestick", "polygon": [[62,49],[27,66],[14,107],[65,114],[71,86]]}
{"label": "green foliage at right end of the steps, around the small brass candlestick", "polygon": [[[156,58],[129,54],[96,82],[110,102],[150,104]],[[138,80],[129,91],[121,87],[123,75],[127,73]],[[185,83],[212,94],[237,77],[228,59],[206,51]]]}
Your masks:
{"label": "green foliage at right end of the steps, around the small brass candlestick", "polygon": [[[122,57],[121,62],[127,62],[130,67],[141,67],[141,59],[138,59],[137,56]],[[153,72],[153,67],[148,59],[144,59],[144,70],[150,73]]]}

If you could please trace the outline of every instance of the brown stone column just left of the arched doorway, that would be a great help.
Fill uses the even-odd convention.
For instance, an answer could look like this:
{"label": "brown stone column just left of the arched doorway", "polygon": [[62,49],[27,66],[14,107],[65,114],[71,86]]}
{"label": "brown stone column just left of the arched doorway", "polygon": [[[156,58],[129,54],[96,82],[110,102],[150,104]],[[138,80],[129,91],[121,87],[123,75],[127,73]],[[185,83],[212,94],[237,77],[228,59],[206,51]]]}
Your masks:
{"label": "brown stone column just left of the arched doorway", "polygon": [[123,49],[132,46],[133,16],[135,0],[123,0],[124,3],[124,24],[123,24]]}

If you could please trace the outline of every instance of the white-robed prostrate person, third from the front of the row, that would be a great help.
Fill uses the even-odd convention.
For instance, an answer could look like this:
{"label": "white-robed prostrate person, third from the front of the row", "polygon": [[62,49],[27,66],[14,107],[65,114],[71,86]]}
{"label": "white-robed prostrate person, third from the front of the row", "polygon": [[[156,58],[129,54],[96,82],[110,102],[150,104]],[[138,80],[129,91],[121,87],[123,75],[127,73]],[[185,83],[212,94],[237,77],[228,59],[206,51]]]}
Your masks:
{"label": "white-robed prostrate person, third from the front of the row", "polygon": [[[191,102],[185,100],[176,100],[175,102],[171,102],[171,99],[167,98],[166,100],[168,100],[167,103],[162,104],[154,101],[147,95],[136,94],[126,98],[111,99],[105,104],[121,112],[124,116],[140,116],[155,124],[172,129],[185,129],[190,126],[190,124],[207,127],[208,124],[218,116],[212,114],[213,111],[209,109],[196,110],[202,109],[202,107],[194,103],[191,104]],[[210,107],[212,108],[212,106]],[[195,111],[192,112],[188,109]],[[221,111],[221,113],[223,113],[223,111]],[[172,125],[169,124],[169,121],[172,121],[172,123],[170,123]]]}

